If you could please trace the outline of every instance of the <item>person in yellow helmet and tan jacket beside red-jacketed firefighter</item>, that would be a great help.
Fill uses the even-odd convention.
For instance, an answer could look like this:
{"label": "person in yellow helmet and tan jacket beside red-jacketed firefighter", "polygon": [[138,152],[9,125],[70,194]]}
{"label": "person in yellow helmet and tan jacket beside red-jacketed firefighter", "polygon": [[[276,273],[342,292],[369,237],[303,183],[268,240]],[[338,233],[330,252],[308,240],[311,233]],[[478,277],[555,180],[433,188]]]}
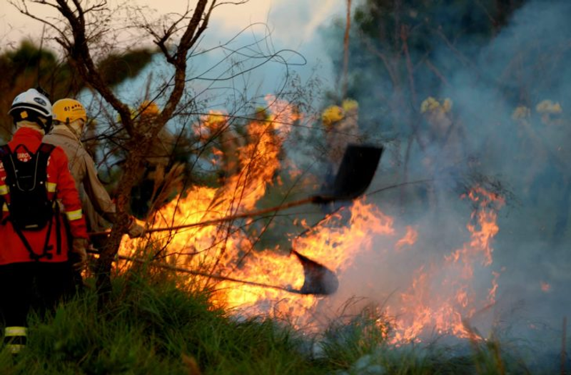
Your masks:
{"label": "person in yellow helmet and tan jacket beside red-jacketed firefighter", "polygon": [[[98,178],[94,160],[81,143],[81,136],[87,123],[84,106],[75,99],[64,98],[53,106],[54,128],[44,137],[45,143],[64,149],[69,159],[69,169],[81,195],[81,205],[86,215],[89,232],[101,232],[106,222],[115,222],[115,204]],[[128,227],[130,237],[140,237],[144,228],[131,218]],[[103,239],[92,239],[94,246],[101,247]]]}

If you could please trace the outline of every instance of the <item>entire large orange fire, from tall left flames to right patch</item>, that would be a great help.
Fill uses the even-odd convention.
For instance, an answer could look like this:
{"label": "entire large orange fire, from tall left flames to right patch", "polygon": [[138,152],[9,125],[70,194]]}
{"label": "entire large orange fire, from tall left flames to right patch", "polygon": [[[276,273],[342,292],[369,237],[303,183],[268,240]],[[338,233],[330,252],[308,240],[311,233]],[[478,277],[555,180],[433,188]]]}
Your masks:
{"label": "entire large orange fire, from tall left flames to right patch", "polygon": [[[248,125],[249,141],[238,148],[238,173],[228,176],[218,188],[191,187],[186,195],[172,200],[156,214],[153,227],[177,227],[256,209],[256,203],[266,194],[278,170],[283,168],[279,155],[288,136],[288,127],[283,124],[291,123],[299,116],[288,103],[272,97],[266,100],[273,112],[265,120],[253,120]],[[210,120],[223,117],[217,113]],[[205,123],[208,121],[208,118],[204,119]],[[215,150],[214,155],[220,153]],[[213,163],[218,162],[213,160]],[[290,174],[299,173],[293,170]],[[472,217],[467,218],[466,242],[440,259],[418,267],[410,274],[408,286],[400,287],[402,292],[383,305],[388,314],[395,317],[395,342],[415,341],[430,332],[469,337],[470,319],[495,302],[499,273],[489,269],[491,242],[498,232],[496,212],[503,202],[479,186],[463,198],[470,199],[475,207]],[[254,219],[154,232],[145,240],[126,239],[120,253],[132,256],[137,248],[145,245],[155,251],[153,258],[163,263],[206,274],[299,289],[304,282],[302,265],[290,255],[289,248],[255,249],[251,232],[248,234],[245,230],[253,225]],[[299,222],[305,223],[305,220]],[[379,238],[392,244],[390,252],[401,255],[421,246],[416,225],[397,230],[393,217],[385,215],[366,197],[333,213],[305,235],[293,237],[290,246],[332,269],[343,287],[343,276],[353,260],[373,252]],[[379,255],[379,262],[383,262],[385,255]],[[490,275],[485,295],[473,284],[476,270],[484,270]],[[329,298],[208,277],[189,277],[204,286],[214,285],[216,302],[228,309],[240,314],[288,317],[295,324],[308,323],[320,301]],[[353,293],[358,294],[358,291]]]}

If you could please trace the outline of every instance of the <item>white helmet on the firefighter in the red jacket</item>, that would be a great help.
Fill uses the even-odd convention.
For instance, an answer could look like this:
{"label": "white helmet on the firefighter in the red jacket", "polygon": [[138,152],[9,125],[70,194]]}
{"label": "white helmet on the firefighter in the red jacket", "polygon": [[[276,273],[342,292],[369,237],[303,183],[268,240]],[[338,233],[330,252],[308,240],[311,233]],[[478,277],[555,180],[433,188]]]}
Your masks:
{"label": "white helmet on the firefighter in the red jacket", "polygon": [[46,133],[51,129],[51,103],[46,93],[36,88],[30,88],[16,96],[8,114],[14,118],[14,123],[29,120],[40,125]]}

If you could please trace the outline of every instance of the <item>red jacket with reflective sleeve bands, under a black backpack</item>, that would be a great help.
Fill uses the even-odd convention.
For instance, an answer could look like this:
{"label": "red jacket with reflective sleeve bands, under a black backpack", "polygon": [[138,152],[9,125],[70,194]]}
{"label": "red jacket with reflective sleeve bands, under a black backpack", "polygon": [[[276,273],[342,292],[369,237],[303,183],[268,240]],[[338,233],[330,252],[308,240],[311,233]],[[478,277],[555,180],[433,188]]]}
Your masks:
{"label": "red jacket with reflective sleeve bands, under a black backpack", "polygon": [[[41,144],[42,134],[31,128],[19,128],[14,133],[14,137],[8,143],[12,152],[19,150],[19,145],[25,145],[32,153],[36,153]],[[24,148],[22,153],[18,153],[19,160],[26,158]],[[49,200],[53,200],[54,196],[64,205],[65,215],[69,223],[72,237],[87,238],[86,224],[81,213],[81,201],[79,200],[79,192],[76,189],[74,178],[69,172],[68,160],[64,150],[56,147],[48,159],[46,188],[48,190]],[[9,187],[6,186],[6,171],[4,165],[0,161],[0,195],[4,197],[6,202],[10,202]],[[26,250],[24,242],[14,231],[9,220],[4,221],[8,216],[8,207],[6,204],[2,207],[2,223],[0,224],[0,265],[16,262],[33,262],[29,251]],[[65,262],[68,259],[69,242],[67,240],[66,225],[64,225],[64,212],[62,215],[54,215],[51,219],[51,233],[48,244],[52,246],[50,252],[51,259],[42,257],[41,262]],[[56,225],[59,220],[59,225]],[[36,254],[41,254],[44,249],[48,227],[39,231],[22,231],[26,240],[29,242],[32,250]],[[60,228],[61,250],[57,251],[57,234],[56,227]]]}

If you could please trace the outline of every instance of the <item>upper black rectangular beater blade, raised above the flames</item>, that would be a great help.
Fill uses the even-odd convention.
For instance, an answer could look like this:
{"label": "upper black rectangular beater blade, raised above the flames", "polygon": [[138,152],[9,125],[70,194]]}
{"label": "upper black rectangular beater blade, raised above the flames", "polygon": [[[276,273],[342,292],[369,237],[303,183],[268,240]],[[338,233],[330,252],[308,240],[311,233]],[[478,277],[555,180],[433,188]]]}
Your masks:
{"label": "upper black rectangular beater blade, raised above the flames", "polygon": [[314,202],[353,200],[367,190],[375,176],[383,147],[348,145],[329,191],[313,197]]}

